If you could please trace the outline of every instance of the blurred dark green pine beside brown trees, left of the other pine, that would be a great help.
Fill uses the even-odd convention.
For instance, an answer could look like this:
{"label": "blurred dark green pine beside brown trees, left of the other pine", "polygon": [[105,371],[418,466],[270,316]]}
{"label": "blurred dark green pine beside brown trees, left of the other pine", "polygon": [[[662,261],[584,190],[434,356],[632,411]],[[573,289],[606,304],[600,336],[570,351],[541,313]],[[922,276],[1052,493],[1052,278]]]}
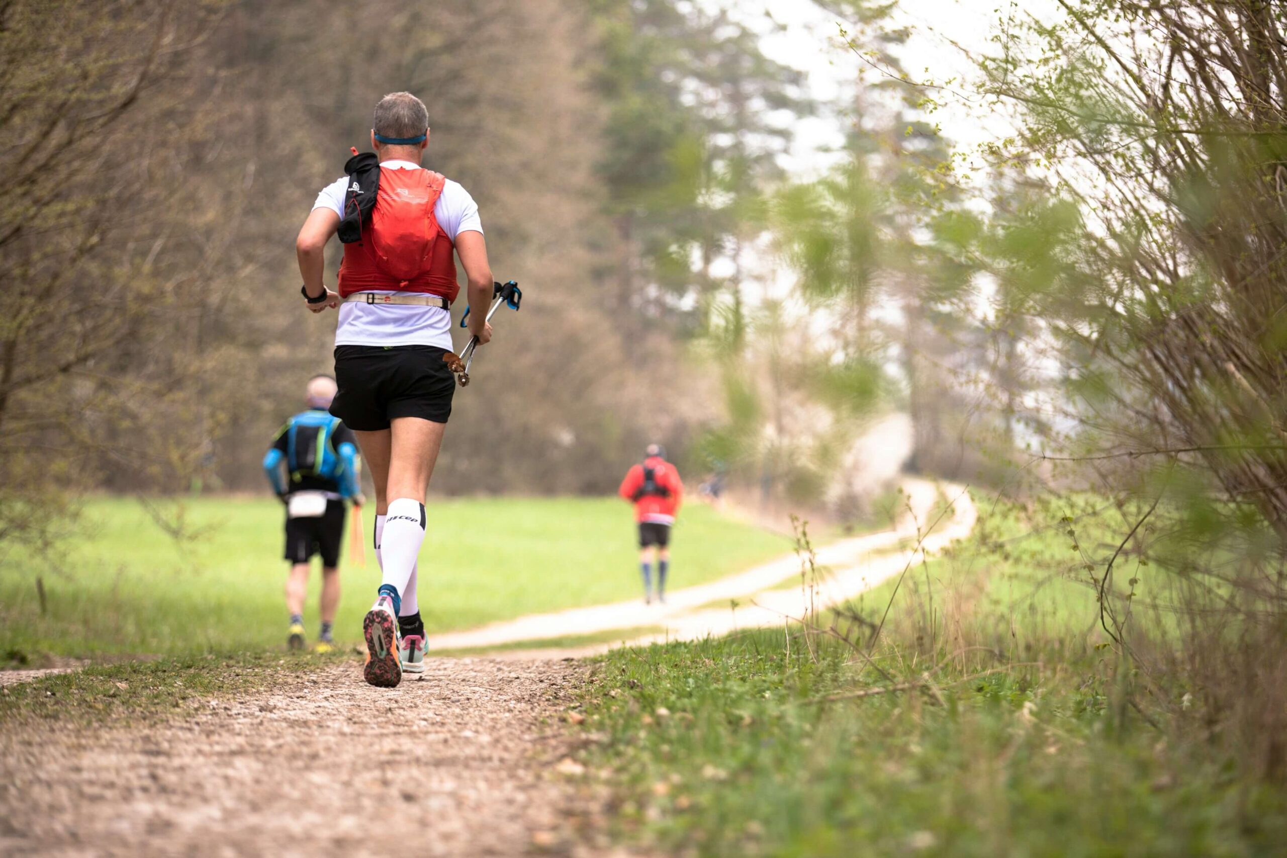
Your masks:
{"label": "blurred dark green pine beside brown trees, left of the other pine", "polygon": [[[727,10],[676,0],[591,8],[610,106],[598,173],[620,242],[618,301],[708,330],[728,298],[740,339],[743,246],[764,228],[763,192],[790,140],[776,111],[810,110],[802,76],[764,57],[759,33]],[[713,274],[722,258],[735,268],[726,280]]]}

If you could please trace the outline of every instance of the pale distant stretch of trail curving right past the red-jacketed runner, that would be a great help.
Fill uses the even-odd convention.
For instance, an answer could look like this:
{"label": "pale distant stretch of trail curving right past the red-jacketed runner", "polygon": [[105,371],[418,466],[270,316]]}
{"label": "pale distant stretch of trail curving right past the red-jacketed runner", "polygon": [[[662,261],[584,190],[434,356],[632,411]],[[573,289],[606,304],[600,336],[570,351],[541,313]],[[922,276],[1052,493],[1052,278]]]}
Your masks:
{"label": "pale distant stretch of trail curving right past the red-jacketed runner", "polygon": [[[960,486],[942,486],[947,499],[954,502],[954,511],[937,523],[929,520],[929,517],[940,497],[940,484],[910,479],[903,487],[911,514],[902,517],[894,529],[840,540],[817,550],[817,564],[830,569],[830,576],[810,595],[812,607],[821,608],[851,599],[897,575],[909,563],[919,562],[927,551],[932,554],[941,550],[973,531],[978,514],[969,495]],[[918,536],[921,540],[919,548],[893,550],[900,541]],[[735,629],[781,625],[785,617],[801,617],[810,607],[808,600],[802,598],[799,587],[772,589],[789,578],[798,578],[799,571],[799,558],[788,554],[710,584],[676,590],[668,595],[664,605],[645,605],[640,599],[634,599],[530,615],[480,629],[430,635],[429,647],[430,651],[501,647],[640,626],[663,626],[665,631],[631,643],[694,640],[707,635],[727,634]],[[734,599],[743,604],[736,612],[727,607]],[[725,604],[713,607],[718,603]],[[578,647],[573,651],[541,651],[539,654],[566,652],[566,654],[586,656],[601,652],[609,645],[611,644]]]}

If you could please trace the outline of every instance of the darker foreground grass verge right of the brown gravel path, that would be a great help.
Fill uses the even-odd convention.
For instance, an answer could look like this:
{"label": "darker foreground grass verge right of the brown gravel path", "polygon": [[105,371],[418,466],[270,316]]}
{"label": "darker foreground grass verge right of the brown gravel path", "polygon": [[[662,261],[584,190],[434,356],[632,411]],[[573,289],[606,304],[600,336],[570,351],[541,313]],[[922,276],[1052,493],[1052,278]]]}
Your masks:
{"label": "darker foreground grass verge right of the brown gravel path", "polygon": [[[583,697],[620,836],[698,855],[1256,854],[1287,796],[1117,723],[1094,660],[974,676],[757,631],[618,649]],[[869,693],[866,697],[848,697]]]}

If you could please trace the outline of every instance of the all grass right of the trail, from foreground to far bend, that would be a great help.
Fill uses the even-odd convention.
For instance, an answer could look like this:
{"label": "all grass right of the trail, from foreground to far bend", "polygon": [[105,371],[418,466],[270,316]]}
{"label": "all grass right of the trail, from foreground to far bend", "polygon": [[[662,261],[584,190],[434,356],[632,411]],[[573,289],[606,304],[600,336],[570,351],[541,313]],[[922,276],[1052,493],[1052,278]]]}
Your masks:
{"label": "all grass right of the trail, from foreground to far bend", "polygon": [[[824,620],[851,643],[797,626],[602,656],[580,761],[618,836],[700,855],[1281,853],[1287,790],[1239,778],[1239,742],[1183,678],[1115,670],[1085,566],[1102,572],[1116,513],[978,506],[972,539],[853,605],[864,622]],[[1167,586],[1135,559],[1121,578],[1140,602]]]}

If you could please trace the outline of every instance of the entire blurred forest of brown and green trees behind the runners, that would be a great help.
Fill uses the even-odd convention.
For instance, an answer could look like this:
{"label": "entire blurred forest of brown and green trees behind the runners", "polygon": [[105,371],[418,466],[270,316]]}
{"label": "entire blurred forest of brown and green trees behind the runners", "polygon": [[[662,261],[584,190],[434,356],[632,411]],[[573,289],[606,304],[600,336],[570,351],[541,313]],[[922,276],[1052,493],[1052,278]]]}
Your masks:
{"label": "entire blurred forest of brown and green trees behind the runners", "polygon": [[[736,5],[0,5],[0,540],[85,490],[261,488],[331,366],[292,236],[396,89],[528,296],[439,492],[606,492],[660,439],[842,517],[882,459],[1017,497],[1165,473],[1287,532],[1281,9],[1058,0],[934,81],[893,6],[819,0],[860,61],[822,103]],[[1004,133],[963,148],[945,108]],[[804,117],[844,142],[790,175]]]}

